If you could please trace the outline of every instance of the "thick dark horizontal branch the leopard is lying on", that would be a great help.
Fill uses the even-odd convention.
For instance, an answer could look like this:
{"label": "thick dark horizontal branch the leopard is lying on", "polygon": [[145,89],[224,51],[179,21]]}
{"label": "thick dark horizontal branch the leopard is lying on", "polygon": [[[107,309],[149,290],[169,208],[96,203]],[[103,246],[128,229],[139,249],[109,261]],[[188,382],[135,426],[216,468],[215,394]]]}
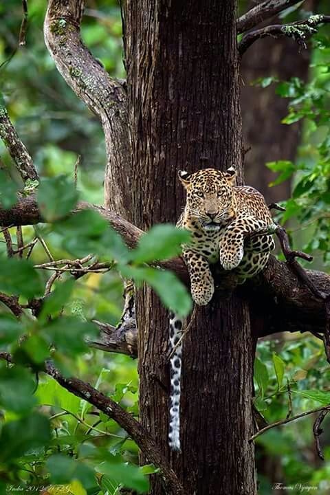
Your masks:
{"label": "thick dark horizontal branch the leopard is lying on", "polygon": [[[78,210],[94,208],[107,219],[113,228],[123,237],[130,248],[134,248],[142,230],[120,217],[120,215],[89,203],[79,203]],[[34,197],[24,197],[11,210],[1,210],[0,225],[29,225],[42,222]],[[173,270],[181,281],[189,284],[188,273],[181,258],[161,261],[159,266]],[[324,293],[330,292],[330,276],[307,270],[309,279],[316,288]],[[223,274],[220,275],[223,277]],[[262,317],[263,326],[256,330],[256,336],[262,337],[278,331],[316,331],[325,332],[326,315],[322,300],[311,294],[309,288],[290,270],[287,263],[270,256],[270,261],[262,274],[252,278],[239,287],[243,297],[250,300],[252,309]]]}

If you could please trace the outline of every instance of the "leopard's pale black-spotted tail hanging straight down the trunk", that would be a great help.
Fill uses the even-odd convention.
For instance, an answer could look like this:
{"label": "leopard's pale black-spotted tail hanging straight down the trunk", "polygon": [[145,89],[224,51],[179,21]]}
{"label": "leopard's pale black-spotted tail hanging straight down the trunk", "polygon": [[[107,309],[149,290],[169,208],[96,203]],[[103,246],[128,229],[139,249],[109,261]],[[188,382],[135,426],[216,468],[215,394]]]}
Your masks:
{"label": "leopard's pale black-spotted tail hanging straight down the trunk", "polygon": [[[180,394],[181,394],[181,353],[182,344],[179,342],[182,331],[182,320],[170,313],[170,424],[168,444],[172,450],[180,449]],[[175,348],[175,346],[177,346]]]}

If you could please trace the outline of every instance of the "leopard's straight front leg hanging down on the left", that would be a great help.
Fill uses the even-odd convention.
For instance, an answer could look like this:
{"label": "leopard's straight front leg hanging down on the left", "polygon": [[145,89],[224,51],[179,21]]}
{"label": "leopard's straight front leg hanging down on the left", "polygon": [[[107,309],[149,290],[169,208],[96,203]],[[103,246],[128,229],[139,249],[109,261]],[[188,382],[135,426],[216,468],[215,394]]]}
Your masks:
{"label": "leopard's straight front leg hanging down on the left", "polygon": [[190,276],[190,291],[192,299],[198,306],[210,303],[214,294],[214,280],[208,261],[190,250],[184,250],[184,261],[188,267]]}

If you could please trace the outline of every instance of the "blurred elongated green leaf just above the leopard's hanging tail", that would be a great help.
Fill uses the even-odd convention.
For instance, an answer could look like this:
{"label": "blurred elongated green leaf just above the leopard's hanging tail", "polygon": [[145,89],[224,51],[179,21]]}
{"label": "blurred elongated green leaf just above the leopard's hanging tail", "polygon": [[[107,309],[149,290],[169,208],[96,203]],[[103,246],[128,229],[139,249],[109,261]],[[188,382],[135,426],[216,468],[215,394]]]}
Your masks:
{"label": "blurred elongated green leaf just above the leopard's hanging tail", "polygon": [[135,282],[146,282],[159,295],[164,306],[184,318],[192,309],[192,300],[186,287],[168,270],[150,267],[120,267],[124,276],[134,278]]}

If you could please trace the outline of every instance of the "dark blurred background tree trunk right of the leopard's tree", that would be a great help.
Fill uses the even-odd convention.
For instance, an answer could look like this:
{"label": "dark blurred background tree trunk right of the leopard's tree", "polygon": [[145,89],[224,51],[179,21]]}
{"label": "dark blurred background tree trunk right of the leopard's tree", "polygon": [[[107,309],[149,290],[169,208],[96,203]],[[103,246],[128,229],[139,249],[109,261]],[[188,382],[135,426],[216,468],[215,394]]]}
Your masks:
{"label": "dark blurred background tree trunk right of the leopard's tree", "polygon": [[[316,11],[318,0],[309,0],[304,8]],[[254,2],[249,3],[252,8]],[[277,23],[275,19],[274,23]],[[276,76],[280,80],[298,77],[307,80],[310,51],[298,54],[297,44],[290,39],[263,39],[256,41],[253,50],[245,54],[241,63],[241,107],[246,153],[245,181],[264,194],[267,200],[287,199],[291,192],[291,181],[268,188],[276,174],[265,163],[278,159],[294,160],[301,140],[302,122],[291,125],[281,124],[287,115],[286,98],[275,92],[274,85],[267,88],[252,86],[258,78]]]}

